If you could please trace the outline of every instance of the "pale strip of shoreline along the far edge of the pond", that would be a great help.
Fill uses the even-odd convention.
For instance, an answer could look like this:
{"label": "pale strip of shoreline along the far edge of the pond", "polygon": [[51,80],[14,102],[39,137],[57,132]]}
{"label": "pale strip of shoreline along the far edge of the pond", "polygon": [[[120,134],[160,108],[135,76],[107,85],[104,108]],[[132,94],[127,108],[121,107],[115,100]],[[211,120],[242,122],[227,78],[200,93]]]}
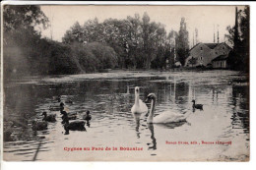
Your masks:
{"label": "pale strip of shoreline along the far edge of the pond", "polygon": [[[169,76],[176,76],[176,81],[179,80],[179,74],[185,75],[186,79],[190,80],[195,74],[207,73],[208,76],[215,75],[219,77],[222,75],[228,76],[243,76],[244,78],[237,78],[237,83],[249,82],[248,75],[239,71],[231,70],[207,70],[207,71],[194,71],[194,70],[183,70],[183,71],[159,71],[159,70],[109,70],[107,73],[90,73],[90,74],[76,74],[76,75],[48,75],[48,76],[25,76],[8,78],[5,80],[5,85],[23,85],[23,84],[65,84],[74,83],[78,81],[90,81],[90,80],[114,80],[114,79],[137,79],[137,78],[150,78],[150,77],[161,77],[169,80]],[[205,74],[204,74],[205,75]],[[219,75],[219,76],[218,76]],[[202,75],[203,76],[203,75]],[[205,77],[205,76],[204,76]]]}

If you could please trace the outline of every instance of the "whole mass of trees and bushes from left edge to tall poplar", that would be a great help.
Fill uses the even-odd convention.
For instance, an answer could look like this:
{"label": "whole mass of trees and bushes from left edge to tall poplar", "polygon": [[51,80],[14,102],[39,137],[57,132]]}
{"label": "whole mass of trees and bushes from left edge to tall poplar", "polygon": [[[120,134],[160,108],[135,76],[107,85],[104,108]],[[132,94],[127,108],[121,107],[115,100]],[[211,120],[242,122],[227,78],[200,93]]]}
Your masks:
{"label": "whole mass of trees and bushes from left edge to tall poplar", "polygon": [[83,25],[76,22],[66,31],[62,42],[57,42],[41,38],[40,28],[47,28],[49,23],[39,6],[6,5],[5,73],[46,75],[114,68],[163,69],[186,58],[188,32],[184,21],[181,20],[179,32],[172,30],[167,34],[164,26],[152,22],[147,13],[142,18],[135,14],[102,23],[94,19]]}

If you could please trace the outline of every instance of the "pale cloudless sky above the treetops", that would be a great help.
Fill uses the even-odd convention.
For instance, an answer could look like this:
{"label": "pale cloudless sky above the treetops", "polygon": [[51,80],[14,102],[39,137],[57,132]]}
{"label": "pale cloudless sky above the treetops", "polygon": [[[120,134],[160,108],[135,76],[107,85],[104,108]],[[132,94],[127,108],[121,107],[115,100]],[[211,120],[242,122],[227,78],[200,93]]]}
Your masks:
{"label": "pale cloudless sky above the treetops", "polygon": [[[238,7],[241,8],[243,7]],[[223,42],[226,27],[233,26],[235,20],[235,6],[47,5],[41,6],[41,10],[51,23],[51,28],[41,31],[42,36],[50,37],[52,29],[52,38],[57,41],[61,41],[75,22],[84,25],[86,21],[97,18],[102,23],[105,19],[126,19],[136,13],[142,18],[144,12],[147,12],[151,21],[163,24],[167,32],[171,29],[178,31],[180,20],[184,17],[191,46],[195,28],[198,28],[198,40],[208,43],[214,42],[214,30],[217,36],[219,28],[220,41]]]}

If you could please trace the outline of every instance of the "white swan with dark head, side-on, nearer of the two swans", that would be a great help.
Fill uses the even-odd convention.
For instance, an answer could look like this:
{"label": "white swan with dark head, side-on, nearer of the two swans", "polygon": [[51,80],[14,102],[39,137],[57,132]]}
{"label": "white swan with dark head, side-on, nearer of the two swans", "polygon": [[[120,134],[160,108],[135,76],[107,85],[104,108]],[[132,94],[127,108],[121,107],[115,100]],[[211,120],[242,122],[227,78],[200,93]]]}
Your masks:
{"label": "white swan with dark head, side-on, nearer of the two swans", "polygon": [[180,114],[173,111],[164,111],[160,113],[160,115],[154,117],[154,110],[156,104],[157,96],[155,93],[150,93],[147,96],[147,101],[151,100],[151,110],[150,114],[147,118],[147,123],[154,123],[154,124],[167,124],[167,123],[176,123],[176,122],[183,122],[186,121],[188,117],[188,113]]}

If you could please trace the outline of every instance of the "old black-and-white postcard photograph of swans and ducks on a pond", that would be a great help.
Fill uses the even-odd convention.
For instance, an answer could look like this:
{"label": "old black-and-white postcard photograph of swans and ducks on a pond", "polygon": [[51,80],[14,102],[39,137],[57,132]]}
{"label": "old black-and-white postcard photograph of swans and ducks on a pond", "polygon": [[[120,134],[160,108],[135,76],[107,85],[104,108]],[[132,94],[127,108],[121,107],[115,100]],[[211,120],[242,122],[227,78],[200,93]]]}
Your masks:
{"label": "old black-and-white postcard photograph of swans and ducks on a pond", "polygon": [[250,160],[250,6],[1,6],[4,161]]}

